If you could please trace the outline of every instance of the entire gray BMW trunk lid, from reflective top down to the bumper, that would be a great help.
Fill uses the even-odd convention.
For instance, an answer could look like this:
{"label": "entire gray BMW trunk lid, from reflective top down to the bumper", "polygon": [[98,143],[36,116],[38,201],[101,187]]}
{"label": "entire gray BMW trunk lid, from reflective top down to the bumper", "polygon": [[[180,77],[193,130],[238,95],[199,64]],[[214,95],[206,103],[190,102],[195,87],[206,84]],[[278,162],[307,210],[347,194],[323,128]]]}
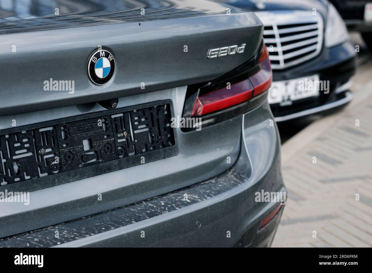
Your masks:
{"label": "entire gray BMW trunk lid, from reflective top down to the bumper", "polygon": [[[2,184],[0,191],[5,188],[28,191],[30,203],[1,204],[0,238],[152,198],[231,168],[240,153],[242,115],[201,131],[183,133],[180,128],[173,128],[174,135],[165,135],[169,142],[164,141],[164,145],[157,142],[157,148],[144,154],[144,164],[141,154],[121,159],[120,146],[115,151],[106,145],[121,145],[119,140],[125,137],[135,142],[131,130],[133,133],[138,130],[141,135],[138,142],[148,141],[148,133],[154,130],[141,131],[148,128],[140,128],[143,125],[140,121],[158,112],[166,118],[158,126],[155,123],[155,127],[164,127],[170,116],[183,115],[188,85],[212,81],[257,53],[262,41],[262,23],[253,13],[230,8],[211,1],[178,0],[64,1],[63,6],[32,1],[28,9],[1,6],[0,150],[3,156],[31,145],[28,142],[35,137],[36,150],[27,153],[32,153],[30,158],[36,157],[45,169],[55,165],[51,160],[55,161],[57,155],[60,164],[77,160],[68,153],[72,148],[80,149],[79,160],[92,165],[75,170],[64,165],[62,173],[17,182],[10,180],[8,173],[22,175],[21,157],[15,160],[19,166],[7,157],[9,162],[4,163],[7,168],[1,175],[9,183]],[[244,50],[232,55],[224,53],[224,48],[238,47]],[[216,57],[207,58],[216,52]],[[103,60],[101,64],[100,58],[107,58],[109,64]],[[108,67],[106,72],[112,75],[107,82],[100,82],[105,78],[103,69]],[[102,78],[92,79],[93,72]],[[113,98],[119,98],[114,110],[96,103]],[[137,127],[121,127],[128,113],[134,115],[132,125]],[[96,120],[93,122],[91,118]],[[105,124],[108,119],[112,125],[108,130],[118,130],[116,138],[109,134],[98,136],[97,123],[100,120]],[[62,133],[66,126],[72,130],[70,139],[81,142],[79,146],[66,143]],[[18,146],[9,147],[8,152],[7,135],[14,138],[16,134],[14,143],[8,143]],[[20,138],[24,134],[30,135]],[[87,134],[92,137],[85,137]],[[95,141],[96,137],[106,136],[102,145]],[[47,149],[38,149],[45,145]],[[99,155],[94,154],[96,145],[101,145]],[[128,153],[132,153],[130,148]],[[109,156],[113,152],[118,152],[116,157]],[[103,162],[103,155],[107,162]],[[97,162],[90,163],[92,160],[103,163],[94,165]],[[36,175],[45,173],[45,169],[35,169]],[[26,175],[34,178],[30,173]],[[24,187],[26,184],[28,188]],[[97,195],[102,199],[97,199]]]}

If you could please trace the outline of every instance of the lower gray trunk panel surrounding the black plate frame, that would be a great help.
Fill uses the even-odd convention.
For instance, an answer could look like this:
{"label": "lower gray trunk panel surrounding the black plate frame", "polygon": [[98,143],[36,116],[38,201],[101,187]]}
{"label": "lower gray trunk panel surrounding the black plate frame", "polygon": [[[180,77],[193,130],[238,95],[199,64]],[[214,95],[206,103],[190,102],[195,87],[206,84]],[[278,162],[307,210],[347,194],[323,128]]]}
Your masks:
{"label": "lower gray trunk panel surrounding the black plate frame", "polygon": [[[186,87],[121,98],[118,107],[170,98],[174,114],[182,116]],[[86,113],[95,111],[93,108]],[[100,109],[102,110],[102,109]],[[71,107],[67,115],[80,110]],[[35,122],[53,119],[59,109],[35,113]],[[22,114],[27,123],[29,114]],[[30,204],[1,203],[0,237],[58,224],[131,204],[209,179],[230,168],[240,150],[241,116],[201,131],[177,128],[179,155],[30,193]],[[211,145],[213,143],[213,145]],[[97,200],[102,194],[102,201]],[[22,219],[22,221],[17,221]]]}

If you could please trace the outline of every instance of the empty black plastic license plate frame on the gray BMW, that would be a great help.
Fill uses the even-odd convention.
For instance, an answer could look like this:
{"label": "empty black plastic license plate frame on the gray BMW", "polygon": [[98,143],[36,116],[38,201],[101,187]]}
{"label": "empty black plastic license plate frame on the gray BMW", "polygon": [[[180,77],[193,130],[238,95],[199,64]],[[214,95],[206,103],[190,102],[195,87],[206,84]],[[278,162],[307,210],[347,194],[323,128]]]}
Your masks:
{"label": "empty black plastic license plate frame on the gray BMW", "polygon": [[[148,126],[146,122],[150,122],[150,121],[148,119],[146,121],[145,118],[149,118],[147,116],[151,113],[151,111],[156,111],[156,107],[164,107],[164,105],[167,105],[165,109],[165,111],[167,111],[167,114],[163,114],[160,117],[163,118],[165,115],[166,119],[161,124],[158,123],[157,126],[152,126],[153,122],[151,121],[150,126]],[[147,112],[144,110],[146,110]],[[131,113],[132,116],[131,114],[128,114],[128,113]],[[134,113],[136,113],[139,119],[137,120],[134,119],[135,118]],[[125,122],[125,120],[128,121],[128,117],[129,117],[130,126],[128,126],[128,123]],[[12,136],[15,136],[16,134],[22,133],[19,135],[20,137],[18,137],[17,141],[19,141],[23,146],[24,146],[24,143],[29,143],[31,144],[31,146],[33,143],[33,145],[35,146],[34,151],[32,152],[28,150],[27,152],[33,153],[32,157],[33,157],[33,160],[36,162],[36,164],[44,165],[45,167],[44,169],[42,170],[38,169],[39,175],[41,174],[41,171],[48,173],[48,171],[52,172],[53,168],[56,169],[57,168],[56,166],[53,167],[56,161],[60,164],[59,165],[60,171],[57,171],[57,173],[48,173],[46,176],[42,176],[42,177],[39,177],[39,175],[36,175],[37,177],[35,177],[35,171],[34,171],[33,173],[27,174],[28,176],[32,176],[31,178],[21,179],[21,181],[16,181],[16,182],[12,181],[11,183],[7,183],[6,185],[0,186],[0,190],[1,191],[7,190],[8,192],[9,191],[31,192],[31,191],[36,191],[38,189],[48,188],[51,186],[73,182],[73,181],[77,181],[77,180],[84,179],[84,178],[90,178],[93,176],[102,175],[102,174],[113,172],[116,170],[130,168],[132,166],[140,165],[143,162],[145,164],[148,162],[165,159],[167,157],[176,156],[178,155],[177,134],[176,134],[176,130],[174,130],[170,126],[171,117],[174,117],[172,101],[162,100],[162,101],[154,101],[151,103],[132,105],[128,107],[116,108],[113,110],[105,110],[105,111],[100,111],[100,112],[95,112],[95,113],[88,113],[88,114],[83,114],[79,116],[61,118],[58,120],[45,121],[42,123],[29,124],[26,126],[12,127],[9,129],[0,130],[0,141],[1,141],[0,150],[1,150],[1,153],[3,153],[3,154],[0,154],[0,169],[2,171],[2,174],[0,173],[0,182],[3,182],[3,178],[6,177],[6,174],[4,173],[4,171],[7,172],[7,169],[9,169],[9,163],[7,164],[6,168],[3,168],[3,165],[1,165],[1,164],[4,164],[1,162],[3,161],[4,153],[9,153],[8,147],[10,145],[8,144],[8,147],[6,147],[6,144],[4,145],[5,143],[4,137],[6,135],[8,135],[8,138],[9,138],[9,136],[12,137]],[[103,126],[101,126],[102,128],[98,126],[99,120],[101,121],[101,123],[103,120],[103,124],[106,124],[106,129],[108,131],[111,130],[112,135],[111,133],[102,134]],[[150,134],[153,135],[153,140],[155,140],[156,137],[158,137],[157,140],[159,140],[159,135],[154,136],[153,131],[155,131],[156,129],[159,129],[159,126],[162,127],[162,125],[167,123],[167,120],[169,120],[169,123],[168,123],[169,126],[166,126],[165,130],[169,130],[170,137],[169,138],[163,137],[163,140],[167,140],[169,141],[169,143],[163,143],[165,145],[162,145],[161,142],[156,142],[154,149],[150,149],[150,147],[147,145],[148,150],[145,150],[146,149],[145,144],[147,144],[145,140],[145,136],[147,135],[148,143],[151,142]],[[125,126],[121,127],[120,124],[122,124],[123,121],[124,121]],[[138,121],[138,124],[134,124],[137,121]],[[144,126],[144,125],[147,125],[147,126]],[[149,129],[149,127],[151,128]],[[48,131],[48,128],[49,129],[54,128],[54,129],[50,129]],[[83,143],[77,145],[76,143],[71,143],[70,140],[62,139],[62,134],[61,134],[62,128],[67,129],[67,131],[65,132],[65,134],[67,134],[68,136],[67,139],[70,139],[70,140],[71,138],[75,139],[76,140],[75,142],[77,142],[78,139],[80,139],[81,141],[90,139],[91,142],[89,143],[88,141],[86,145]],[[46,130],[40,131],[40,129],[46,129]],[[120,133],[121,133],[120,137],[115,136],[115,134],[118,132],[118,129],[120,130]],[[105,132],[107,132],[107,130]],[[71,131],[73,131],[74,136],[70,136]],[[123,133],[123,131],[126,132],[126,134]],[[33,133],[30,134],[29,132],[33,132]],[[161,132],[159,131],[158,133],[161,134]],[[32,140],[30,140],[31,135],[33,137]],[[99,140],[100,137],[105,137],[106,135],[109,135],[109,137],[107,137],[106,139],[102,139],[102,141]],[[25,137],[24,139],[21,140],[20,138],[23,138],[24,136],[28,136],[28,137]],[[51,141],[53,139],[53,136],[54,136],[54,141],[55,141],[54,146],[51,145],[51,142],[53,142]],[[28,139],[28,142],[22,142],[25,139]],[[42,143],[43,142],[42,139],[44,139],[44,143]],[[161,139],[162,139],[162,136],[160,135],[160,140]],[[130,140],[132,140],[132,142]],[[65,146],[66,142],[69,142],[67,143],[67,146]],[[124,151],[124,155],[119,157],[118,148],[124,147],[124,146],[118,146],[118,145],[121,145],[122,143],[128,144],[129,146],[131,144],[135,144],[136,146],[134,146],[133,149],[136,149],[138,147],[137,151],[133,151],[133,149],[132,150],[126,149]],[[41,150],[42,149],[41,147],[44,147],[43,144],[49,145],[46,147],[46,149],[44,149],[44,151]],[[112,150],[109,151],[109,153],[106,153],[106,151],[110,150],[108,149],[108,145],[106,144],[110,144],[112,147]],[[28,146],[28,147],[31,147],[31,146]],[[91,149],[88,149],[89,146],[91,146]],[[9,158],[8,156],[8,159],[13,160],[12,155],[15,155],[15,149],[14,147],[10,147],[10,149],[12,149],[12,151],[10,152],[11,157]],[[68,160],[66,160],[68,159],[68,156],[66,157],[65,155],[67,152],[72,152],[71,149],[74,149],[75,151],[73,152],[73,160],[71,162],[76,160],[77,165],[71,164],[71,162],[67,162]],[[141,152],[139,152],[140,149],[142,149]],[[99,151],[97,152],[99,154],[90,153],[92,151],[96,151],[96,152]],[[133,152],[134,154],[132,154]],[[85,158],[83,158],[83,156],[80,156],[82,154],[84,154]],[[53,155],[53,156],[49,156],[49,155]],[[49,157],[45,159],[45,156],[49,156]],[[58,160],[56,160],[56,156],[58,157]],[[144,158],[145,160],[141,161],[142,156],[145,157]],[[19,160],[22,160],[24,158],[27,158],[27,157],[20,157]],[[29,160],[31,160],[31,157],[29,158],[30,158]],[[23,164],[25,164],[25,162],[23,162]],[[74,165],[74,166],[71,167],[71,165]],[[20,169],[21,169],[20,174],[22,174],[22,170],[23,170],[22,167],[20,167]],[[11,170],[11,171],[15,172],[16,169]],[[24,177],[26,177],[26,174],[24,174]]]}

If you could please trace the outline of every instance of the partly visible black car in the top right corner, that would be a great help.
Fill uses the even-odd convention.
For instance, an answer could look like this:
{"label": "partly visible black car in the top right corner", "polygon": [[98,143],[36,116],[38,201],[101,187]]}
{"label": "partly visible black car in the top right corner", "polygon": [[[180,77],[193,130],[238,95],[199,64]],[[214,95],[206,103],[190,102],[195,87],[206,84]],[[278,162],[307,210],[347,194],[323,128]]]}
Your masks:
{"label": "partly visible black car in the top right corner", "polygon": [[351,31],[359,31],[372,51],[372,0],[330,0]]}

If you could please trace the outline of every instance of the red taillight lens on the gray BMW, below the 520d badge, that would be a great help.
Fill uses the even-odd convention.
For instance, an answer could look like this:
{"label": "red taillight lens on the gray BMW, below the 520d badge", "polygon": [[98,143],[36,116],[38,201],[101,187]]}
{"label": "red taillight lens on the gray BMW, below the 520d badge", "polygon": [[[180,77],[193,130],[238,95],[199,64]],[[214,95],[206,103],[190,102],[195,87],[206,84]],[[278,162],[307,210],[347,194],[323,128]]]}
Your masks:
{"label": "red taillight lens on the gray BMW, below the 520d badge", "polygon": [[269,89],[272,83],[272,71],[268,56],[269,52],[263,45],[258,64],[260,69],[256,74],[249,79],[232,84],[229,89],[225,87],[196,97],[192,116],[203,116],[243,103]]}

